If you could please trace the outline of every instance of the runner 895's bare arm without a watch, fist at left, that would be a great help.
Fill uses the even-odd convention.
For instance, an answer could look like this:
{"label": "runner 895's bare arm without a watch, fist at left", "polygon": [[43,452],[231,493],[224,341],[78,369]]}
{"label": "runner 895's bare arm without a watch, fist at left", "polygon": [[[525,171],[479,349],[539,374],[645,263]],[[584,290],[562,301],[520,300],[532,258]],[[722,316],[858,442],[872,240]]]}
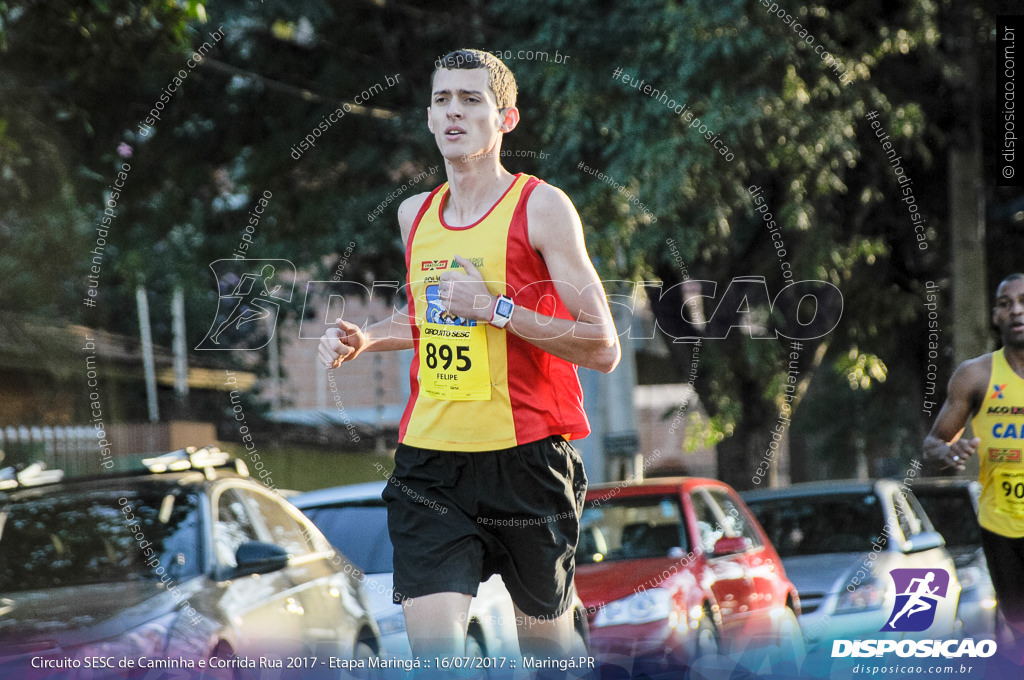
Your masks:
{"label": "runner 895's bare arm without a watch, fist at left", "polygon": [[[401,227],[402,245],[409,242],[413,220],[427,198],[420,194],[407,199],[398,208],[398,225]],[[409,316],[408,305],[366,330],[355,324],[339,318],[336,328],[329,328],[321,336],[317,354],[329,369],[336,369],[344,362],[351,362],[365,351],[389,351],[413,348],[413,320]]]}

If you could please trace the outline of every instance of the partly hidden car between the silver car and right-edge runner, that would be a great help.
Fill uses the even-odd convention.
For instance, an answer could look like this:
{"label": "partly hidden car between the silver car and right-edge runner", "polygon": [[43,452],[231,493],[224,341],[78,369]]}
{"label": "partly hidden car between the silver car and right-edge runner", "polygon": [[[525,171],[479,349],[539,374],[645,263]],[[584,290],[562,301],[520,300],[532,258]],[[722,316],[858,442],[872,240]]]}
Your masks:
{"label": "partly hidden car between the silver car and right-edge runner", "polygon": [[946,542],[961,584],[957,617],[963,634],[992,636],[996,629],[995,589],[981,549],[978,499],[981,483],[964,477],[920,479],[913,494]]}

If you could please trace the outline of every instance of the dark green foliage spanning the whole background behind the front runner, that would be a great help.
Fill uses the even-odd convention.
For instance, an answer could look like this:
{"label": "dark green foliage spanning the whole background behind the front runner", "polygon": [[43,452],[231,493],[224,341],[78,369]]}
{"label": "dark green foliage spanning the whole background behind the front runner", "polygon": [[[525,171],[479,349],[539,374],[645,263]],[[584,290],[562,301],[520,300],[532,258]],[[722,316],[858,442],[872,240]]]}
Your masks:
{"label": "dark green foliage spanning the whole background behind the front runner", "polygon": [[[603,278],[656,279],[668,288],[685,270],[722,291],[735,277],[761,275],[772,297],[786,271],[828,282],[842,291],[843,317],[807,343],[802,388],[827,375],[834,390],[809,392],[824,411],[869,392],[891,413],[907,395],[894,379],[877,383],[879,372],[906,372],[904,388],[920,384],[922,281],[945,274],[941,224],[947,172],[955,171],[946,150],[970,99],[949,36],[974,16],[969,33],[983,50],[994,12],[983,0],[961,3],[966,9],[931,0],[780,4],[805,34],[761,2],[739,0],[506,0],[486,8],[435,0],[0,2],[5,308],[133,332],[124,310],[144,283],[159,340],[170,337],[163,310],[182,286],[198,342],[216,305],[208,265],[231,257],[263,192],[272,199],[250,257],[313,271],[355,242],[346,277],[399,279],[397,206],[443,180],[441,171],[410,185],[439,163],[423,120],[433,60],[475,45],[513,54],[522,123],[506,148],[545,154],[506,166],[567,192]],[[187,71],[209,42],[206,58]],[[837,59],[836,70],[817,47]],[[556,53],[567,58],[556,62]],[[186,77],[160,120],[146,124],[181,70]],[[295,158],[325,117],[394,76]],[[641,81],[664,99],[633,85]],[[927,251],[865,119],[871,111],[914,179]],[[103,251],[101,303],[86,309],[86,254],[124,163],[131,171]],[[752,201],[753,186],[781,242]],[[737,455],[755,460],[778,414],[790,347],[742,336],[734,329],[728,340],[706,343],[697,387],[713,430],[701,438],[727,437],[720,447],[734,442]],[[821,365],[828,370],[816,373]],[[869,390],[837,379],[858,370],[856,386],[866,378]],[[892,427],[905,434],[920,424]],[[844,456],[837,445],[829,451]]]}

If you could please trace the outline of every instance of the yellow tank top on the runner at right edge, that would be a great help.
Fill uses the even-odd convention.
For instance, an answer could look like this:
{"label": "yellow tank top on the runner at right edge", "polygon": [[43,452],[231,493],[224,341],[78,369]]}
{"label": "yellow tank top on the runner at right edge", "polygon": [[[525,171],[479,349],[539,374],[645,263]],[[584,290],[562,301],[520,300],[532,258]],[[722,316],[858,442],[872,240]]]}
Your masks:
{"label": "yellow tank top on the runner at right edge", "polygon": [[1024,378],[1010,368],[1001,349],[992,352],[985,400],[971,426],[981,439],[978,522],[1000,536],[1024,537]]}

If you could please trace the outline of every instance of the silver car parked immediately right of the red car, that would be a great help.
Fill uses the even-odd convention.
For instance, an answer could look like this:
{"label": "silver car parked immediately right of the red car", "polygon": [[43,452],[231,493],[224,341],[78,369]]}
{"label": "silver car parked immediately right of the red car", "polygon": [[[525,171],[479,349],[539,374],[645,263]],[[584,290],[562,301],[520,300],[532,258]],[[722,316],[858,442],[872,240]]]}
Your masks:
{"label": "silver car parked immediately right of the red car", "polygon": [[742,497],[797,584],[809,646],[879,637],[899,594],[890,577],[897,568],[948,572],[948,592],[927,634],[953,635],[961,586],[952,557],[918,499],[899,482],[810,482]]}

